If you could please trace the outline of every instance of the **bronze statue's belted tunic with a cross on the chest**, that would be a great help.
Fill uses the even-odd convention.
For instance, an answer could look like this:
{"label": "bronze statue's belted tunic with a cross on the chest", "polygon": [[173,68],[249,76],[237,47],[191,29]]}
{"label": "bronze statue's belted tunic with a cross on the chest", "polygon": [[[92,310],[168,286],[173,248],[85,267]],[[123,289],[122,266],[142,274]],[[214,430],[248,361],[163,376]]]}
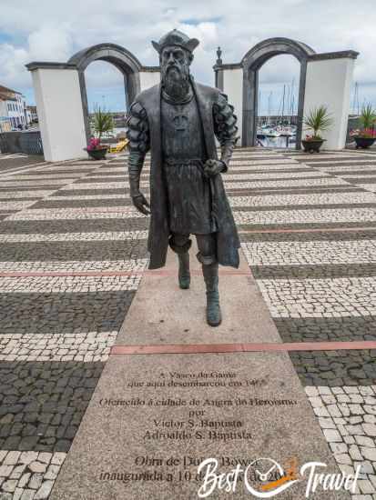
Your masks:
{"label": "bronze statue's belted tunic with a cross on the chest", "polygon": [[213,233],[216,224],[210,182],[203,175],[205,146],[194,95],[177,105],[162,94],[161,120],[169,229],[184,235]]}

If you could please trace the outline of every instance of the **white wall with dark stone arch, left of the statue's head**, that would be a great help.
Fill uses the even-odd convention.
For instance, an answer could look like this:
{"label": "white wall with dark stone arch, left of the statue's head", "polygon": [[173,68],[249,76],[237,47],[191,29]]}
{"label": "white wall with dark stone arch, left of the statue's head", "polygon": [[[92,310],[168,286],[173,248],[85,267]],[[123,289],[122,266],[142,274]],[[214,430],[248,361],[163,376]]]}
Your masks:
{"label": "white wall with dark stone arch, left of the statue's head", "polygon": [[85,70],[94,61],[107,61],[122,73],[127,105],[160,80],[159,66],[143,66],[125,47],[92,45],[66,63],[33,62],[32,72],[39,127],[46,161],[79,158],[90,135]]}

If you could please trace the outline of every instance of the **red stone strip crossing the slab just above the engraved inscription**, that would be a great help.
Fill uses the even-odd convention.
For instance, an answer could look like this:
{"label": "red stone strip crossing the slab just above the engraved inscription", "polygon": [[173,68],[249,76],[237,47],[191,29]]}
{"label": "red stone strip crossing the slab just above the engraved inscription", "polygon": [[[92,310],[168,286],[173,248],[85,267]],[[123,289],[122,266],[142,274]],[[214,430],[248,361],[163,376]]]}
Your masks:
{"label": "red stone strip crossing the slab just above the engraved inscription", "polygon": [[215,353],[337,351],[362,349],[376,349],[376,341],[296,342],[284,344],[114,345],[111,347],[110,355],[194,355]]}

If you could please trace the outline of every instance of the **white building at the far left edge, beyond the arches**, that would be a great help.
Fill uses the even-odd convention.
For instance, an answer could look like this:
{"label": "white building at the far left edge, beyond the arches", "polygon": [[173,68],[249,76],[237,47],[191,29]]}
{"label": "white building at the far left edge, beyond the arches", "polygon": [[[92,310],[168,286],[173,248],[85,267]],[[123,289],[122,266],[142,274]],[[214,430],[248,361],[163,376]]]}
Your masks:
{"label": "white building at the far left edge, beyond the arches", "polygon": [[28,125],[25,96],[0,85],[0,128],[2,132]]}

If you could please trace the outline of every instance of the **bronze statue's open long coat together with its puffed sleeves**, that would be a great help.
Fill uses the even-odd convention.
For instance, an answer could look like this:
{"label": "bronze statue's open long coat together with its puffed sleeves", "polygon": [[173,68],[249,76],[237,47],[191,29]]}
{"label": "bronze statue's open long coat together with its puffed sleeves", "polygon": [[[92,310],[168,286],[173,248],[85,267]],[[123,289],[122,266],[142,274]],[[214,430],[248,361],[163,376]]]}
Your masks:
{"label": "bronze statue's open long coat together with its puffed sleeves", "polygon": [[[225,160],[226,172],[229,158],[236,143],[238,127],[234,109],[227,96],[217,88],[196,84],[191,78],[193,93],[196,97],[199,115],[202,120],[205,153],[209,159],[217,159],[215,136],[218,138]],[[162,147],[162,103],[161,85],[144,90],[137,95],[130,106],[127,117],[127,137],[129,139],[129,171],[141,174],[147,151],[151,152],[150,165],[150,225],[147,249],[150,252],[149,269],[158,269],[166,264],[168,239],[171,235],[168,215],[168,189],[164,168],[165,151]],[[218,230],[217,258],[220,265],[239,267],[239,235],[229,206],[222,177],[220,174],[210,179],[213,218]]]}

